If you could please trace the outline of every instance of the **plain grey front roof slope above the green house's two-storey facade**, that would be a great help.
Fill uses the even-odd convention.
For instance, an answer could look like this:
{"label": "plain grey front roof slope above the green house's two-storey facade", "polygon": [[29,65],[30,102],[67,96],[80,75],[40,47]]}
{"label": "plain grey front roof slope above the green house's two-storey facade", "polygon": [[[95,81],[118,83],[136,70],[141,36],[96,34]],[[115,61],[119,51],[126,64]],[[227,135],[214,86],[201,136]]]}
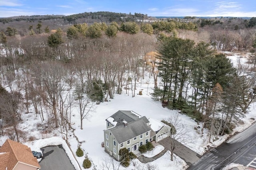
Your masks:
{"label": "plain grey front roof slope above the green house's two-storey facade", "polygon": [[126,127],[124,127],[124,125],[118,125],[116,127],[108,128],[107,130],[112,132],[117,142],[120,144],[150,131],[151,128],[145,123],[145,119],[146,117],[141,117],[136,121],[128,123]]}

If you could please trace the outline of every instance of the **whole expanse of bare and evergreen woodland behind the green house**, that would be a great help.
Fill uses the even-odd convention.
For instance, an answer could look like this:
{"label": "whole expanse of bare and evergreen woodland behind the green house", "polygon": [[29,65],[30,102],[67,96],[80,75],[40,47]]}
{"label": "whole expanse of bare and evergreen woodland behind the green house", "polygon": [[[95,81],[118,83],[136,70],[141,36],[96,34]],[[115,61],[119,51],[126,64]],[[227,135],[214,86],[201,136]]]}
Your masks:
{"label": "whole expanse of bare and evergreen woodland behind the green house", "polygon": [[[256,97],[255,77],[248,76],[256,71],[255,18],[145,23],[144,14],[128,16],[98,12],[50,19],[64,25],[47,25],[37,16],[31,17],[36,22],[2,21],[0,119],[13,129],[5,133],[24,137],[18,122],[29,107],[61,132],[72,128],[71,109],[79,107],[82,129],[90,103],[127,89],[135,97],[145,76],[154,79],[152,98],[164,107],[195,118],[210,135],[230,133]],[[250,53],[249,66],[235,68],[221,51]]]}

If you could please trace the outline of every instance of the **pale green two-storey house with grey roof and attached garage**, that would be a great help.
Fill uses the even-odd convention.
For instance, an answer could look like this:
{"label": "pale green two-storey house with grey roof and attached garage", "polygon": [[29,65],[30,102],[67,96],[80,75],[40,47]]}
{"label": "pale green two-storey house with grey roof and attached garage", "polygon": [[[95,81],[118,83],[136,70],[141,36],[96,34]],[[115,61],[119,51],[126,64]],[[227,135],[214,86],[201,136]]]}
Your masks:
{"label": "pale green two-storey house with grey roof and attached garage", "polygon": [[137,156],[140,155],[139,146],[152,142],[152,140],[158,141],[163,137],[163,134],[166,136],[168,129],[170,129],[170,127],[166,128],[167,125],[163,125],[156,120],[151,119],[151,121],[152,123],[145,116],[142,117],[134,111],[114,113],[106,119],[107,129],[104,130],[105,152],[114,156],[116,160],[120,160],[118,153],[122,148],[127,148],[129,152],[134,152]]}

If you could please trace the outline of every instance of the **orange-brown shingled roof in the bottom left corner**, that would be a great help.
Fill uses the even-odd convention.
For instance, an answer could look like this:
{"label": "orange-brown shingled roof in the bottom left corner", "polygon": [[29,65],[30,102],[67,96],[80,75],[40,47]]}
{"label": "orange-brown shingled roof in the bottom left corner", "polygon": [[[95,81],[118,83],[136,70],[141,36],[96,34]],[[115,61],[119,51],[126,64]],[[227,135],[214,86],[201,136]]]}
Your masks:
{"label": "orange-brown shingled roof in the bottom left corner", "polygon": [[7,165],[8,170],[12,170],[18,162],[22,162],[24,164],[40,168],[40,165],[38,164],[37,159],[33,156],[30,148],[24,144],[7,139],[0,148],[0,152],[6,152],[4,154],[0,154],[0,158],[1,160],[2,158],[7,160],[7,162],[0,161],[0,167],[5,168]]}

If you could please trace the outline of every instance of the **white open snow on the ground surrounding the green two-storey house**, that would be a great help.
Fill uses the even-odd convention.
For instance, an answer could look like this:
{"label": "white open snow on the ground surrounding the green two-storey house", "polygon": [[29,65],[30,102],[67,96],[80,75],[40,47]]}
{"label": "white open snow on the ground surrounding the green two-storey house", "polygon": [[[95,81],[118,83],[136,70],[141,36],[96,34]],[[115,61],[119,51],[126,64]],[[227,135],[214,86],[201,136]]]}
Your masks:
{"label": "white open snow on the ground surrounding the green two-storey house", "polygon": [[[232,58],[232,56],[229,56],[229,58],[230,57]],[[132,95],[128,96],[128,94],[125,94],[125,90],[123,90],[121,95],[115,94],[114,99],[110,99],[109,102],[95,105],[95,111],[90,114],[90,119],[83,121],[84,124],[82,130],[80,129],[80,115],[78,110],[73,110],[71,121],[72,128],[75,129],[74,134],[82,143],[81,148],[85,151],[85,153],[88,153],[88,157],[92,160],[92,163],[95,165],[97,170],[101,169],[100,166],[109,158],[109,155],[104,152],[104,148],[101,146],[101,143],[104,141],[103,130],[106,128],[105,119],[110,117],[112,114],[116,113],[118,110],[131,110],[142,116],[146,116],[147,118],[153,118],[161,121],[162,119],[168,119],[175,113],[179,113],[177,110],[169,110],[164,108],[159,101],[154,101],[151,99],[150,93],[153,92],[153,87],[153,79],[140,79],[140,82],[137,84],[136,94],[138,94],[139,91],[142,91],[142,95],[135,95],[135,97],[132,97]],[[131,91],[129,94],[131,94]],[[40,151],[40,148],[45,146],[62,144],[74,167],[79,169],[76,160],[74,160],[72,153],[66,145],[66,142],[62,139],[64,135],[62,135],[57,129],[49,131],[47,121],[42,123],[40,117],[36,117],[33,110],[30,111],[31,113],[22,115],[22,119],[24,121],[19,125],[19,128],[26,132],[28,137],[34,140],[32,142],[26,142],[25,144],[30,146],[32,150],[37,151]],[[254,122],[250,119],[252,117],[256,119],[256,103],[252,103],[252,105],[250,105],[250,110],[243,119],[244,124],[236,127],[235,131],[240,132],[249,127]],[[197,130],[194,129],[198,126],[202,127],[201,124],[198,125],[198,123],[196,123],[193,119],[182,114],[180,114],[180,119],[182,119],[182,122],[186,125],[188,134],[192,138],[191,142],[187,144],[187,147],[194,150],[198,154],[202,155],[208,149],[208,145],[216,147],[224,142],[226,138],[228,138],[228,135],[220,136],[218,140],[214,141],[212,144],[209,144],[207,143],[207,130],[204,129],[204,134],[201,136],[201,128],[198,128]],[[68,142],[70,143],[72,151],[75,154],[78,141],[71,131],[68,133]],[[0,137],[0,145],[5,142],[6,138],[7,136]],[[46,140],[42,140],[42,138],[46,138]],[[156,152],[159,153],[159,150],[161,150],[160,148],[161,147],[159,146],[157,150],[154,150],[155,153],[149,153],[149,156],[156,154]],[[76,159],[82,167],[84,157],[76,157]],[[174,161],[171,161],[169,152],[166,152],[164,156],[151,162],[151,164],[156,165],[158,170],[182,170],[187,168],[186,162],[184,162],[184,160],[180,159],[178,156],[175,156]],[[146,166],[145,164],[139,162],[138,159],[135,159],[132,160],[128,168],[120,167],[120,170],[135,169],[134,165],[140,165],[141,167]],[[92,170],[92,168],[93,166],[90,168],[90,170]]]}

